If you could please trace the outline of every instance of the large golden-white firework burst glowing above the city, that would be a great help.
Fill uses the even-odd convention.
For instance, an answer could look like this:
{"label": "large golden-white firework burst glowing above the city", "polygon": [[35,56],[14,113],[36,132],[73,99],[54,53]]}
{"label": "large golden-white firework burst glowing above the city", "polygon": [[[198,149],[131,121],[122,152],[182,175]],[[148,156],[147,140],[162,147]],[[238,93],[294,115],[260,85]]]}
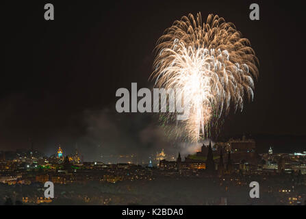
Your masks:
{"label": "large golden-white firework burst glowing above the city", "polygon": [[248,39],[224,18],[209,14],[203,23],[201,13],[183,16],[155,49],[155,87],[179,88],[190,99],[190,116],[181,122],[190,141],[209,137],[230,107],[242,111],[244,99],[253,101],[257,57]]}

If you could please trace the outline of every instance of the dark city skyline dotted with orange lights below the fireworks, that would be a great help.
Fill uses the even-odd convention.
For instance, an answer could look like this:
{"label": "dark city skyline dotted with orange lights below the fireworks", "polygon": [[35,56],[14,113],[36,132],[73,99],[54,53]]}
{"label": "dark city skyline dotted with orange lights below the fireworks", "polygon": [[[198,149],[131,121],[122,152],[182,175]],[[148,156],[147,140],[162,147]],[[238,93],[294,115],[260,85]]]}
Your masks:
{"label": "dark city skyline dotted with orange lights below the fireworks", "polygon": [[[146,164],[86,162],[78,151],[64,155],[61,147],[51,157],[35,150],[14,159],[2,154],[0,188],[6,189],[0,194],[4,205],[305,205],[306,151],[275,153],[270,147],[259,155],[255,141],[244,136],[214,145],[209,141],[184,159],[179,153],[169,160],[164,150],[155,159],[157,165],[153,159]],[[251,193],[248,198],[250,180],[260,182],[264,198],[253,200]],[[55,196],[42,197],[37,187],[45,182],[55,185]],[[175,198],[177,185],[189,200]]]}

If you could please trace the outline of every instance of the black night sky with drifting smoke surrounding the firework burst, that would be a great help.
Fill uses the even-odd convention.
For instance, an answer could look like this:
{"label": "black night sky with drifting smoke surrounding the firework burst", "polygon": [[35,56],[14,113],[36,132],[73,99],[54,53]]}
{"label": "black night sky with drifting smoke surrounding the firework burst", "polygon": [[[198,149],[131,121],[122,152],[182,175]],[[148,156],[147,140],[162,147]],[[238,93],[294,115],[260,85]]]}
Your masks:
{"label": "black night sky with drifting smoke surrounding the firework burst", "polygon": [[[54,4],[55,21],[44,20],[45,3]],[[251,3],[259,3],[260,21],[248,18]],[[259,58],[254,101],[225,120],[221,137],[279,136],[290,142],[278,140],[279,151],[305,149],[303,10],[281,1],[10,1],[3,8],[0,151],[29,148],[29,138],[47,155],[58,144],[64,153],[77,145],[85,159],[175,148],[155,116],[118,114],[115,92],[131,82],[153,86],[156,41],[190,12],[234,23]]]}

